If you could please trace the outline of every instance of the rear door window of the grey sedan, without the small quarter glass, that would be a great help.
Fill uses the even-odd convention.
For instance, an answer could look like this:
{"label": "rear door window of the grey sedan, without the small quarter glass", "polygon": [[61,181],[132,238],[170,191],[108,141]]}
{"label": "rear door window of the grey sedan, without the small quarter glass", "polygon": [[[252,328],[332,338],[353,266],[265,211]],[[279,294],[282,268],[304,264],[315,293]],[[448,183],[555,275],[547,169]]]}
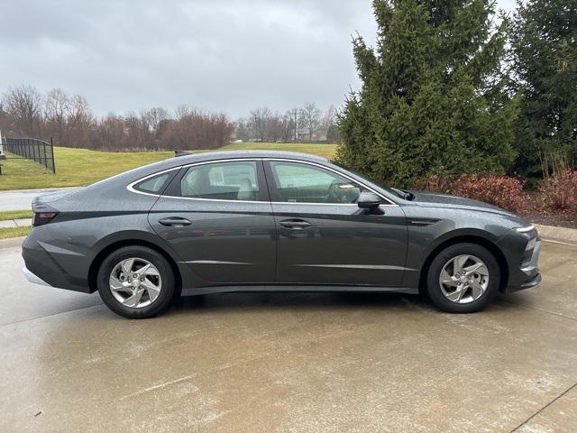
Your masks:
{"label": "rear door window of the grey sedan, without the small quarter glass", "polygon": [[189,167],[180,180],[182,197],[256,201],[259,184],[255,161],[215,162]]}

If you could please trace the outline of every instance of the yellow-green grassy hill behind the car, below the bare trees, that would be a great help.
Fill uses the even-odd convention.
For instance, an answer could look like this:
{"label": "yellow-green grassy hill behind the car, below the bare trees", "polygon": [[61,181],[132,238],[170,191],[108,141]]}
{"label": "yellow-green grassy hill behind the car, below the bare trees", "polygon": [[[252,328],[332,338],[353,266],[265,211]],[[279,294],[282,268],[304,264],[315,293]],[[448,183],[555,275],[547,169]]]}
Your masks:
{"label": "yellow-green grassy hill behind the car, below the bare trees", "polygon": [[[220,151],[275,150],[314,153],[332,158],[334,144],[231,143]],[[86,149],[54,148],[56,174],[28,160],[7,160],[2,167],[0,190],[77,187],[108,178],[125,170],[166,160],[174,152],[96,152]]]}

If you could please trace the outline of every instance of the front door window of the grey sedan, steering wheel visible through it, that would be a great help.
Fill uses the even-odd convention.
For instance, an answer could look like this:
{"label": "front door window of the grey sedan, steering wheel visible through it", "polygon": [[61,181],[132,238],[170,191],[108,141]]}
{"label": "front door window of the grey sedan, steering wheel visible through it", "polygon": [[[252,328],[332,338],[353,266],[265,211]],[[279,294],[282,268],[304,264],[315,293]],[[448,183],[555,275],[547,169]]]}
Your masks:
{"label": "front door window of the grey sedan, steering wheel visible through it", "polygon": [[288,203],[356,203],[362,188],[330,170],[298,162],[270,161],[278,199]]}

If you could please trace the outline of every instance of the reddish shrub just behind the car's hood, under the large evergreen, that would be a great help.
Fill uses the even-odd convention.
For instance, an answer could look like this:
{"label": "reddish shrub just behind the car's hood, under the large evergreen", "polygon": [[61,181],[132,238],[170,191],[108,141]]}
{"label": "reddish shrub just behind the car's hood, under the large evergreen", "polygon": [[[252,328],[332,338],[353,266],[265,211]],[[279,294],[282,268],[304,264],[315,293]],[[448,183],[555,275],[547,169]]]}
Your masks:
{"label": "reddish shrub just behind the car's hood, under the large evergreen", "polygon": [[527,202],[523,183],[517,178],[492,173],[463,174],[454,183],[453,194],[485,201],[517,212]]}

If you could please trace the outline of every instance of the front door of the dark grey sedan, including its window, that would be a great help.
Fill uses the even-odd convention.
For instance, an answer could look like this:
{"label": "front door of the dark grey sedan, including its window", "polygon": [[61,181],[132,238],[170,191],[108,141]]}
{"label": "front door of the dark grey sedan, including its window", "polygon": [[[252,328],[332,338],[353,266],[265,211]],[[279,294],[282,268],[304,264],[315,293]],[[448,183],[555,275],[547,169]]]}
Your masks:
{"label": "front door of the dark grey sedan, including its window", "polygon": [[357,198],[366,188],[319,164],[265,164],[279,234],[278,282],[401,284],[407,224],[400,207],[359,208]]}

